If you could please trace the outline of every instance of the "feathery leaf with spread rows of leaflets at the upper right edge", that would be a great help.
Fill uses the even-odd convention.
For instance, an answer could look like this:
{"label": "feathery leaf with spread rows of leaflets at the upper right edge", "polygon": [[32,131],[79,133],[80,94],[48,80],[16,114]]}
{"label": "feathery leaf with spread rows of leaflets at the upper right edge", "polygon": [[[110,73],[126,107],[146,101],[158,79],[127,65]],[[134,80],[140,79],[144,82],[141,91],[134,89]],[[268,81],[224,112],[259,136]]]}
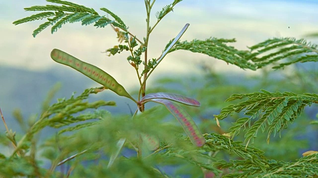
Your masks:
{"label": "feathery leaf with spread rows of leaflets at the upper right edge", "polygon": [[[318,45],[307,43],[304,39],[274,38],[253,45],[249,49],[251,53],[246,55],[246,59],[254,61],[258,68],[286,58],[291,61],[280,62],[273,68],[279,69],[296,62],[318,61]],[[256,52],[254,52],[255,50]],[[264,55],[264,53],[266,54]],[[257,57],[259,55],[262,57]]]}

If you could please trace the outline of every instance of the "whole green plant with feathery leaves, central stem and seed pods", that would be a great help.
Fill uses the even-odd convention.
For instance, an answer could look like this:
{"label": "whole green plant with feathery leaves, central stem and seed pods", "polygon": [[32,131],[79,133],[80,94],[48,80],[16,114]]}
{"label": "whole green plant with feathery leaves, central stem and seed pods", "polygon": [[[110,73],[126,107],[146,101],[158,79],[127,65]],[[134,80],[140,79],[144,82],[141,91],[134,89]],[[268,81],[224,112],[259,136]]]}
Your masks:
{"label": "whole green plant with feathery leaves, central stem and seed pods", "polygon": [[[296,162],[269,160],[264,152],[249,146],[256,138],[258,131],[267,132],[267,141],[273,133],[281,133],[288,123],[300,117],[304,107],[318,103],[318,94],[294,92],[260,92],[234,93],[227,101],[245,99],[224,107],[214,119],[219,120],[244,111],[247,117],[239,117],[228,134],[201,134],[185,109],[175,102],[200,106],[199,101],[179,94],[155,92],[146,94],[146,82],[159,66],[162,59],[175,50],[189,50],[209,55],[236,65],[242,69],[258,70],[266,66],[280,69],[297,62],[318,61],[318,45],[311,45],[305,40],[294,38],[273,38],[248,50],[239,50],[230,43],[235,39],[208,38],[180,42],[189,24],[172,39],[159,58],[149,59],[148,44],[150,35],[157,24],[182,0],[174,0],[156,13],[157,21],[150,25],[150,14],[155,0],[145,0],[147,13],[147,33],[140,40],[128,30],[123,20],[108,10],[100,8],[107,15],[99,15],[92,8],[63,0],[47,0],[58,5],[43,5],[24,8],[27,11],[43,11],[17,20],[13,24],[47,19],[33,32],[35,37],[51,26],[51,33],[57,32],[66,23],[81,22],[81,25],[93,24],[97,28],[113,27],[119,39],[119,45],[106,50],[110,55],[117,55],[123,50],[129,51],[127,57],[130,65],[136,70],[140,89],[137,98],[133,97],[112,76],[100,68],[85,63],[59,49],[53,49],[51,58],[61,64],[70,66],[103,87],[86,89],[82,94],[70,99],[59,99],[57,103],[48,104],[52,94],[44,103],[42,113],[35,122],[31,122],[26,134],[15,138],[15,133],[7,129],[6,138],[13,144],[10,155],[1,154],[0,176],[14,177],[169,177],[162,169],[165,165],[182,165],[190,170],[183,174],[192,177],[317,177],[318,154],[313,151]],[[139,47],[137,47],[139,45]],[[144,58],[144,59],[142,59]],[[287,60],[287,61],[286,61]],[[144,66],[141,70],[140,67]],[[125,96],[136,103],[136,111],[131,116],[112,116],[103,109],[82,113],[89,108],[115,105],[113,101],[85,101],[89,94],[110,89],[120,96]],[[56,89],[53,89],[53,93]],[[208,96],[206,96],[208,97]],[[149,101],[164,105],[181,124],[187,137],[182,136],[179,127],[171,122],[163,122],[165,112],[159,107],[145,109]],[[190,109],[189,109],[190,110]],[[141,114],[137,114],[141,112]],[[2,117],[3,121],[4,118]],[[254,122],[254,120],[256,120]],[[87,122],[89,121],[89,122]],[[80,124],[76,124],[79,123]],[[35,135],[45,127],[62,128],[52,138],[41,145],[42,155],[50,160],[50,168],[41,167],[37,158],[37,138]],[[234,141],[241,129],[245,133],[245,145]],[[266,130],[267,129],[267,130]],[[67,134],[70,133],[70,134]],[[179,134],[175,134],[179,133]],[[180,135],[181,134],[181,135]],[[192,142],[192,144],[189,144]],[[8,141],[4,142],[8,144]],[[137,155],[129,154],[119,157],[124,147],[135,150]],[[236,156],[233,159],[218,157],[222,151]],[[71,155],[71,156],[70,156]],[[76,158],[75,160],[72,160]],[[71,161],[72,160],[72,161]],[[95,160],[95,162],[84,162]],[[56,167],[69,164],[71,167],[64,173]],[[108,166],[106,166],[108,165]],[[183,169],[187,170],[187,169]]]}

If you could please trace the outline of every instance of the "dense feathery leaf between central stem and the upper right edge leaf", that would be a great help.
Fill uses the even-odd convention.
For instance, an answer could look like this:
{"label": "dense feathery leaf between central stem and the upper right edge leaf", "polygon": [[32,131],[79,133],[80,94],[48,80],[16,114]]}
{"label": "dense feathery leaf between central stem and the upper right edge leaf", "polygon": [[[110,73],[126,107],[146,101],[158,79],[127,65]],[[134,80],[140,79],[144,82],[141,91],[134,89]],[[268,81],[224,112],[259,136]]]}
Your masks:
{"label": "dense feathery leaf between central stem and the upper right edge leaf", "polygon": [[[245,59],[245,55],[249,54],[248,51],[235,49],[226,43],[236,42],[235,39],[216,39],[210,38],[203,40],[192,40],[191,42],[183,41],[178,42],[169,52],[175,50],[189,50],[191,52],[203,53],[208,56],[224,60],[227,63],[239,66],[242,69],[256,70],[256,65]],[[166,46],[170,45],[169,42]],[[166,47],[167,48],[167,47]]]}

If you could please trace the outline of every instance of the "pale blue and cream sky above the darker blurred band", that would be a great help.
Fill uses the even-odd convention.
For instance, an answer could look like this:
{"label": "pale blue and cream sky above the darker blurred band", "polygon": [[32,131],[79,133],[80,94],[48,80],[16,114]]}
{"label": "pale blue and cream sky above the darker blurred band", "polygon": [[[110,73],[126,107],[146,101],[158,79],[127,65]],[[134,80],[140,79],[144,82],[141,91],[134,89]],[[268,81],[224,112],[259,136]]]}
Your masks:
{"label": "pale blue and cream sky above the darker blurred band", "polygon": [[[131,33],[140,39],[145,36],[146,13],[143,0],[71,1],[92,7],[100,15],[104,13],[99,8],[106,7],[122,18]],[[156,1],[152,11],[152,25],[156,20],[156,12],[172,1]],[[48,28],[33,38],[33,30],[44,21],[17,26],[12,24],[17,19],[35,14],[24,11],[24,7],[45,4],[49,3],[45,0],[0,0],[0,65],[35,71],[72,70],[50,58],[51,50],[58,48],[100,67],[124,86],[137,84],[135,71],[126,60],[128,53],[111,57],[101,53],[118,45],[116,34],[110,27],[96,29],[93,25],[66,24],[53,35]],[[209,37],[236,38],[238,42],[233,45],[239,49],[246,49],[246,46],[272,37],[303,38],[307,33],[318,32],[317,9],[318,1],[314,0],[184,0],[154,30],[150,37],[149,58],[159,57],[164,46],[186,23],[190,26],[181,41],[204,40]],[[310,40],[318,43],[317,39]],[[161,73],[199,73],[198,65],[202,62],[208,62],[218,71],[243,71],[203,54],[176,51],[164,58],[153,76]]]}

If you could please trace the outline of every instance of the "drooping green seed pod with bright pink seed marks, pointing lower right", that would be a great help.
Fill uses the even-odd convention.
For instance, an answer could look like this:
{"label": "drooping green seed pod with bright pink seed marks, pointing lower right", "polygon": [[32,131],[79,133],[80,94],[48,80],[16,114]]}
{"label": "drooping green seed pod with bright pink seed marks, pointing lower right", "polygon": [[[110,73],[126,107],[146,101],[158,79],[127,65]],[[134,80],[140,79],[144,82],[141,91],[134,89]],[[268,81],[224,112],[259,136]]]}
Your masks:
{"label": "drooping green seed pod with bright pink seed marks, pointing lower right", "polygon": [[205,138],[201,134],[198,126],[182,107],[165,99],[152,99],[150,101],[163,104],[170,111],[170,113],[179,121],[179,123],[183,127],[183,130],[189,136],[191,142],[194,145],[201,147],[205,144]]}

